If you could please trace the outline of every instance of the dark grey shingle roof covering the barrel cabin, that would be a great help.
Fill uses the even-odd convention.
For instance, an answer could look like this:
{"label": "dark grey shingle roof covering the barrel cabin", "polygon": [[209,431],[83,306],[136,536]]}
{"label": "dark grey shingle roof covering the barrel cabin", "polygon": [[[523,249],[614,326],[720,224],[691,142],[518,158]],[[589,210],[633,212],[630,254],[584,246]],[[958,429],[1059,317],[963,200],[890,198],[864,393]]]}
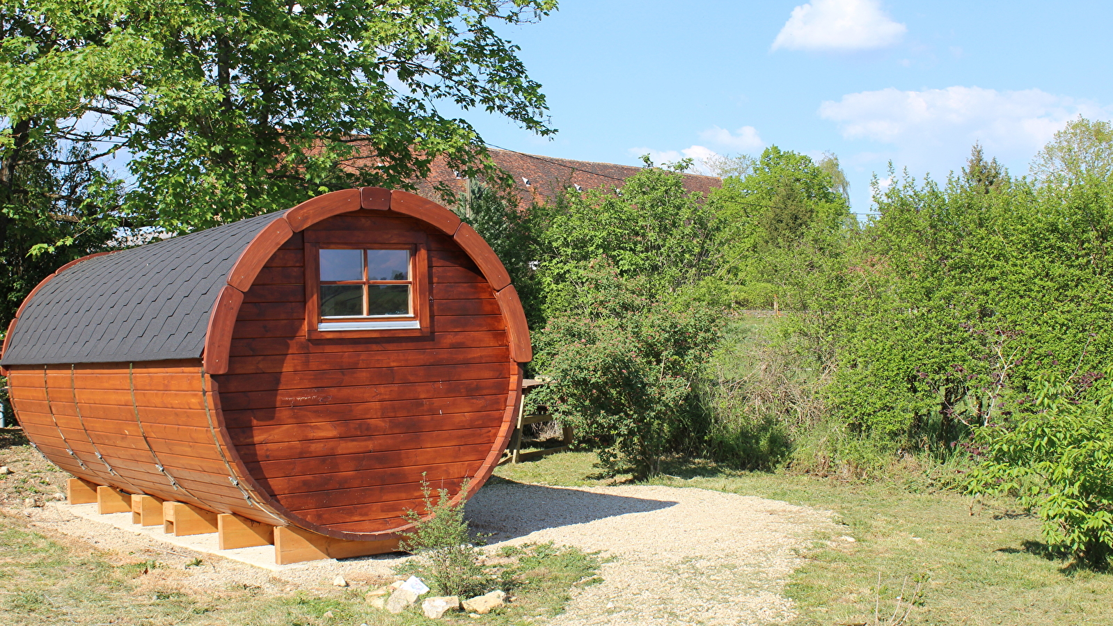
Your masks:
{"label": "dark grey shingle roof covering the barrel cabin", "polygon": [[0,365],[200,357],[209,311],[232,266],[282,212],[70,267],[27,304]]}

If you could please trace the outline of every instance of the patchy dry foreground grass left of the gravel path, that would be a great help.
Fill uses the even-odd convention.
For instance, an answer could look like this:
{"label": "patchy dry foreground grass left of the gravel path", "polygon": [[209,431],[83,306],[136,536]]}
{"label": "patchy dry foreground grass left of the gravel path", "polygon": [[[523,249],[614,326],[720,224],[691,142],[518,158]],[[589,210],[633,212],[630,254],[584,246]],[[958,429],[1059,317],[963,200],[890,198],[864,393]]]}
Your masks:
{"label": "patchy dry foreground grass left of the gravel path", "polygon": [[[599,560],[571,547],[518,546],[490,557],[499,586],[514,602],[479,619],[462,613],[434,622],[414,607],[390,615],[364,600],[353,586],[289,595],[248,585],[200,592],[188,570],[158,560],[120,557],[83,544],[56,540],[19,517],[0,515],[0,624],[91,626],[190,624],[216,626],[417,626],[431,624],[522,624],[563,610],[570,590],[594,584]],[[196,566],[193,566],[196,567]],[[324,595],[321,595],[324,594]]]}

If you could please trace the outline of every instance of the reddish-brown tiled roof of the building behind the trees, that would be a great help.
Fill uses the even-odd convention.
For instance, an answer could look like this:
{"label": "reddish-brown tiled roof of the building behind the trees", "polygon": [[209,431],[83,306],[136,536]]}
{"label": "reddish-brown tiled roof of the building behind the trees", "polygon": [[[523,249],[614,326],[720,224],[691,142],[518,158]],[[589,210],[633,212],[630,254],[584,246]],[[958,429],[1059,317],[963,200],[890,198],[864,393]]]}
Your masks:
{"label": "reddish-brown tiled roof of the building behind the trees", "polygon": [[[574,161],[556,157],[526,155],[511,150],[491,149],[491,159],[514,179],[514,193],[521,206],[534,201],[552,201],[562,190],[605,189],[613,191],[626,185],[626,179],[642,170],[640,167],[620,166],[617,163],[599,163],[593,161]],[[707,195],[711,189],[720,187],[722,181],[713,176],[683,175],[684,188]],[[433,186],[444,182],[456,192],[464,192],[466,180],[457,177],[442,159],[433,162],[430,176],[418,182],[417,192],[427,198],[436,199]]]}

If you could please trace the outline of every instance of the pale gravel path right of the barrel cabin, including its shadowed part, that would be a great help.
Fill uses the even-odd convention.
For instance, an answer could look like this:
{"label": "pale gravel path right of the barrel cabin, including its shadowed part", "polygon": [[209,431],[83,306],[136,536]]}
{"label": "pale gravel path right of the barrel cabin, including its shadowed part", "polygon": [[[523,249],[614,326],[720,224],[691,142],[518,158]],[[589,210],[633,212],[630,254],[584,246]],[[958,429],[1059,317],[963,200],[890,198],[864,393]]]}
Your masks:
{"label": "pale gravel path right of the barrel cabin, including its shadowed part", "polygon": [[794,616],[785,582],[830,514],[693,488],[500,484],[467,505],[492,543],[553,541],[610,557],[554,626],[766,625]]}

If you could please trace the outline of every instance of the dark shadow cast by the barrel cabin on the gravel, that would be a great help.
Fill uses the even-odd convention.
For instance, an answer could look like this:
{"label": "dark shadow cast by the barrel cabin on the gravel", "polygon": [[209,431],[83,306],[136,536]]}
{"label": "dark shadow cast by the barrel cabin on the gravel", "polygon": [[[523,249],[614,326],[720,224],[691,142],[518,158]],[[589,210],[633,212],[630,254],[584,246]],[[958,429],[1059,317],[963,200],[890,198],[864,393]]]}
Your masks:
{"label": "dark shadow cast by the barrel cabin on the gravel", "polygon": [[467,500],[465,515],[472,529],[490,534],[489,541],[504,541],[530,533],[584,524],[631,513],[676,506],[669,500],[592,494],[570,487],[525,485],[513,480],[489,483]]}

